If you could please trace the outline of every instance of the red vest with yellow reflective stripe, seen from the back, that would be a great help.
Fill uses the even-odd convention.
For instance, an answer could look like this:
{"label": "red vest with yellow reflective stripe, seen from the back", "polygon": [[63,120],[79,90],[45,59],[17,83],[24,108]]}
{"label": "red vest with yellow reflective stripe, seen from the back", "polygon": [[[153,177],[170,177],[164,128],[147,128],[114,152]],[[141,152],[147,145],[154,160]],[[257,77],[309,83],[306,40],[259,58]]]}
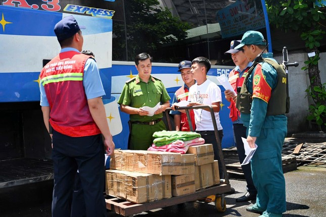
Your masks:
{"label": "red vest with yellow reflective stripe, seen from the back", "polygon": [[83,87],[88,58],[76,51],[61,52],[40,73],[50,104],[50,124],[57,132],[71,137],[101,133],[90,115]]}

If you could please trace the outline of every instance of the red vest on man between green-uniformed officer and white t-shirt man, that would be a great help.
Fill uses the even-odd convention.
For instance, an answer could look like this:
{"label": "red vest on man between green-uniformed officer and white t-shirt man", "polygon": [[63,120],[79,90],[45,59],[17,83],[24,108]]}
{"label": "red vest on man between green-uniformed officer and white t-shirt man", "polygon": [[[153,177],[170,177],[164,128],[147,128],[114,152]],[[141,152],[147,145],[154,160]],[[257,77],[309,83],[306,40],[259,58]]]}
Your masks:
{"label": "red vest on man between green-uniformed officer and white t-shirt man", "polygon": [[[184,85],[175,92],[175,96],[178,102],[181,100],[188,100],[188,94],[189,94],[189,89],[187,87],[184,87]],[[196,130],[194,110],[189,110],[189,115],[193,126],[193,130]],[[181,113],[180,130],[190,131],[187,114],[185,113]]]}

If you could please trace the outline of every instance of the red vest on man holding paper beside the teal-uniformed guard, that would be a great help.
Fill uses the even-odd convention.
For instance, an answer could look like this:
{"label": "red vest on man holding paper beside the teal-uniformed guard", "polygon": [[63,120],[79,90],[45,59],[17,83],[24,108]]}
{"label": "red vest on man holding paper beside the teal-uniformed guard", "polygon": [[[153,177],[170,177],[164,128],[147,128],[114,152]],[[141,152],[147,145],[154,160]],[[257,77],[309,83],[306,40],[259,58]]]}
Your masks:
{"label": "red vest on man holding paper beside the teal-uniformed guard", "polygon": [[[228,75],[228,82],[231,84],[232,88],[236,91],[236,93],[237,87],[241,87],[244,83],[245,77],[249,69],[250,67],[247,67],[241,78],[239,78],[240,73],[236,70],[232,70]],[[240,112],[233,99],[231,99],[230,106],[228,106],[228,108],[230,109],[229,118],[231,119],[231,121],[237,121],[238,117],[240,117]]]}

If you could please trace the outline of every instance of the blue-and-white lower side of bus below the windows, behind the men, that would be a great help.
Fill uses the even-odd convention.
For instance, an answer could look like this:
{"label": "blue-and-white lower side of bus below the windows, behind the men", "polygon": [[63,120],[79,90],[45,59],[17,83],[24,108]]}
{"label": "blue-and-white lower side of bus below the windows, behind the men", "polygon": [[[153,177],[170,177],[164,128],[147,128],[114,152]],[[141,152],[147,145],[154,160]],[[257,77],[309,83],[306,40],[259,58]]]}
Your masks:
{"label": "blue-and-white lower side of bus below the windows, behind the men", "polygon": [[[228,74],[230,71],[229,68],[214,68],[211,69],[208,73],[208,77],[213,82],[217,83],[216,76],[220,74]],[[222,73],[221,73],[222,72]],[[112,65],[112,68],[109,69],[110,76],[112,76],[112,87],[111,87],[111,96],[113,96],[116,100],[120,97],[123,85],[127,80],[137,75],[137,71],[134,65]],[[170,66],[153,66],[152,67],[152,76],[159,78],[163,81],[164,86],[166,87],[172,103],[172,98],[175,91],[183,85],[181,80],[180,73],[177,72],[177,65],[174,67]],[[234,146],[234,136],[233,136],[233,129],[232,129],[232,122],[229,119],[229,102],[225,99],[224,95],[224,88],[219,85],[222,92],[222,103],[221,103],[221,111],[219,112],[220,121],[223,127],[223,139],[222,139],[222,147],[231,147]],[[120,108],[119,108],[120,111]],[[129,115],[120,112],[121,124],[122,124],[122,131],[120,134],[115,135],[114,142],[116,147],[127,149],[127,142],[128,142],[128,120]]]}

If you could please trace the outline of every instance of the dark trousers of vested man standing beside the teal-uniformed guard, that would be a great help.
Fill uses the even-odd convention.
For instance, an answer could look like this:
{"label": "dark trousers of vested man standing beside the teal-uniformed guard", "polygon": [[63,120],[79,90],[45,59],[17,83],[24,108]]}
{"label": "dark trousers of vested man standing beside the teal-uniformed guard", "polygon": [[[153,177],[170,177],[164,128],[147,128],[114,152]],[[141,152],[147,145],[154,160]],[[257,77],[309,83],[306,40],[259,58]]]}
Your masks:
{"label": "dark trousers of vested man standing beside the teal-uniformed guard", "polygon": [[[233,132],[236,138],[236,145],[239,155],[240,164],[244,161],[246,154],[244,143],[242,142],[241,137],[247,138],[247,128],[243,126],[243,124],[233,124]],[[254,182],[252,181],[251,176],[251,164],[241,166],[242,171],[244,172],[245,179],[247,182],[247,191],[251,194],[257,194],[257,190],[255,188]]]}

